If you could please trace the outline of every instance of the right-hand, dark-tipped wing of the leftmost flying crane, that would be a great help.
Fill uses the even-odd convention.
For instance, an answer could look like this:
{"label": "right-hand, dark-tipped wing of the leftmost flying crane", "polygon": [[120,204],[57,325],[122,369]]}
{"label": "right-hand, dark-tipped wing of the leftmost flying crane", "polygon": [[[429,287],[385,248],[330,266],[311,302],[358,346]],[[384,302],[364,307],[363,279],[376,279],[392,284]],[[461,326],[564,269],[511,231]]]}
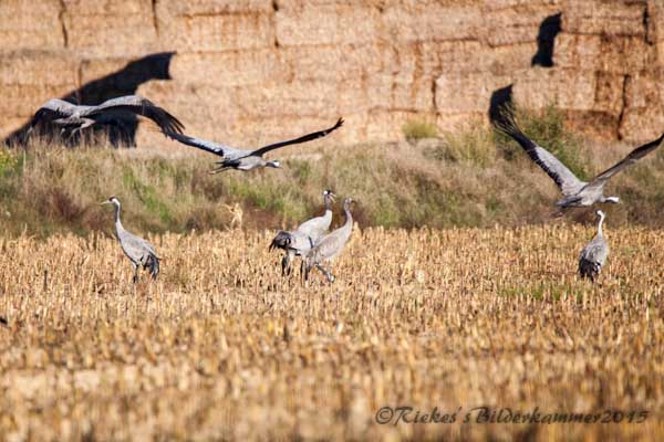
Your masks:
{"label": "right-hand, dark-tipped wing of the leftmost flying crane", "polygon": [[149,99],[138,95],[125,95],[107,99],[98,106],[91,106],[85,115],[114,114],[120,117],[127,114],[136,114],[152,119],[159,126],[164,134],[181,134],[185,126],[179,119],[170,115],[164,108],[155,105]]}

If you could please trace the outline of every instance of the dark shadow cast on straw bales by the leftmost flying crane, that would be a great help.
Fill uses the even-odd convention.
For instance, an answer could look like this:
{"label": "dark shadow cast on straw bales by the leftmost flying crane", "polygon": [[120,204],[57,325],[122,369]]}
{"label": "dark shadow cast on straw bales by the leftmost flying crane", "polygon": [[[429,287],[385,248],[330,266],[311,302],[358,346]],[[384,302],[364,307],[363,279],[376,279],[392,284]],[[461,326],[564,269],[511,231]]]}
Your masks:
{"label": "dark shadow cast on straw bales by the leftmost flying crane", "polygon": [[[143,83],[152,80],[172,80],[169,70],[173,55],[175,55],[175,52],[159,52],[134,60],[120,71],[93,80],[60,98],[70,103],[92,105],[123,95],[135,94]],[[89,130],[92,133],[83,136],[64,138],[61,136],[60,129],[52,125],[39,127],[38,134],[45,139],[58,140],[70,147],[98,136],[107,138],[114,147],[133,147],[136,146],[137,127],[138,119],[136,116],[131,116],[112,120],[108,125],[92,126]],[[4,138],[3,144],[17,147],[25,146],[29,128],[30,122]]]}

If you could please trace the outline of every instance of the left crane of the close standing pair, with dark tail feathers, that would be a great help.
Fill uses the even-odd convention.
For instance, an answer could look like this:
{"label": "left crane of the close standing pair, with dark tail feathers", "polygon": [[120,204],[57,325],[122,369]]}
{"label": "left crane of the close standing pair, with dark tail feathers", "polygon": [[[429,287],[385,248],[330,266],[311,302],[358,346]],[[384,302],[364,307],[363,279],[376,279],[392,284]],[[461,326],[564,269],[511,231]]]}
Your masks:
{"label": "left crane of the close standing pair, with dark tail feathers", "polygon": [[325,202],[325,213],[321,217],[304,221],[295,230],[280,230],[277,236],[270,243],[270,250],[281,249],[286,255],[281,260],[281,274],[291,273],[290,263],[295,256],[305,256],[319,240],[328,233],[332,223],[332,201],[335,194],[331,190],[323,190],[323,201]]}

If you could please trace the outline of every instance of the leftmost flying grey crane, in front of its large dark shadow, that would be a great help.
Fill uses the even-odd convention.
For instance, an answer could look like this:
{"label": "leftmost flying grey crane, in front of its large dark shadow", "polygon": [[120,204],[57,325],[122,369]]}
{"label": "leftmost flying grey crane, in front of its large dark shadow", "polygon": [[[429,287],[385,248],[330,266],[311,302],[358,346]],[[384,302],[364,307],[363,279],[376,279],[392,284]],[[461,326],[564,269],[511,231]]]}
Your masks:
{"label": "leftmost flying grey crane, in front of its large dark shadow", "polygon": [[181,134],[184,125],[168,112],[138,95],[125,95],[107,99],[96,106],[76,105],[53,98],[37,110],[29,131],[38,125],[53,124],[74,135],[95,123],[107,124],[134,115],[152,119],[164,134]]}

